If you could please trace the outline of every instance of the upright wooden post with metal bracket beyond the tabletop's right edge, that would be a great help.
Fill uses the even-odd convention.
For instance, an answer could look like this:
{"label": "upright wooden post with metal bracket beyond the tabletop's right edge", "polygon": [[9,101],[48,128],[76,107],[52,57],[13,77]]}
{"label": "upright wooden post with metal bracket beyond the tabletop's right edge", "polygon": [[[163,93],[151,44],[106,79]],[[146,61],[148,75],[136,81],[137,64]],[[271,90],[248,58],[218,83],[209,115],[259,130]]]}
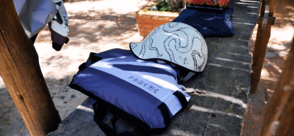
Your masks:
{"label": "upright wooden post with metal bracket beyond the tabletop's right edge", "polygon": [[[277,0],[263,0],[261,6],[260,16],[265,16],[265,8],[268,6],[268,16],[273,17],[275,12]],[[268,18],[268,17],[267,17]],[[267,22],[266,22],[267,23]],[[260,74],[263,66],[263,61],[268,46],[268,40],[270,39],[270,30],[272,23],[267,23],[265,27],[262,26],[263,22],[258,24],[256,40],[252,55],[251,65],[251,83],[250,83],[250,94],[255,93],[260,81]]]}

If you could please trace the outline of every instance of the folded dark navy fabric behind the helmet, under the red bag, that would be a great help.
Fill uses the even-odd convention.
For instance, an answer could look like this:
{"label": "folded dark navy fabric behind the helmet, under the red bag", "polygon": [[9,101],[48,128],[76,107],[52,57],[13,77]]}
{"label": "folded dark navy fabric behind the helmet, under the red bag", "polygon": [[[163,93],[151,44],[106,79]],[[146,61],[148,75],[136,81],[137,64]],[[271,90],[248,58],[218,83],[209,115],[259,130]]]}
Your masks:
{"label": "folded dark navy fabric behind the helmet, under the red bag", "polygon": [[[234,35],[233,23],[227,19],[232,13],[233,8],[228,8],[223,13],[184,9],[172,22],[188,24],[196,28],[204,38],[228,37]],[[228,26],[226,21],[231,25]]]}

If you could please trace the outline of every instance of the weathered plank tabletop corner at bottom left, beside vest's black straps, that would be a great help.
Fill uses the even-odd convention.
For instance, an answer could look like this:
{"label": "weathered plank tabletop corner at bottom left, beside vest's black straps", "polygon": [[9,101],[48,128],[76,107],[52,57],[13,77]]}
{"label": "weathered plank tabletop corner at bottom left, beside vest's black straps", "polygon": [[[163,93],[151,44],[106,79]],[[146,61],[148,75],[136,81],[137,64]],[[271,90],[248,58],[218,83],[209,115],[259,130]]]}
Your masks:
{"label": "weathered plank tabletop corner at bottom left, beside vest's black straps", "polygon": [[[70,135],[99,135],[106,136],[93,120],[94,111],[90,99],[86,99],[79,105],[69,116],[67,116],[60,124],[56,131],[49,133],[47,136],[70,136]],[[113,115],[107,113],[102,119],[111,125]],[[111,125],[112,126],[112,125]],[[116,123],[116,130],[123,132],[132,129],[132,126],[119,119]]]}

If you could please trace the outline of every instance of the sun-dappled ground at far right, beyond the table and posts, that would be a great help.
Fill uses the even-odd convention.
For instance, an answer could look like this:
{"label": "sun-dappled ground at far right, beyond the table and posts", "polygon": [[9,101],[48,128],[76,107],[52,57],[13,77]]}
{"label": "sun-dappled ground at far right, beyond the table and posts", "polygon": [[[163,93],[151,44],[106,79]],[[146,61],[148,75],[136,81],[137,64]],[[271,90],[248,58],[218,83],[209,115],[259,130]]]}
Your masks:
{"label": "sun-dappled ground at far right, beyond the table and posts", "polygon": [[[259,85],[265,87],[265,100],[268,101],[276,89],[284,62],[288,57],[294,35],[294,4],[292,0],[277,1],[275,8],[275,25],[271,27],[268,53],[276,56],[265,58]],[[257,29],[253,32],[253,44]]]}

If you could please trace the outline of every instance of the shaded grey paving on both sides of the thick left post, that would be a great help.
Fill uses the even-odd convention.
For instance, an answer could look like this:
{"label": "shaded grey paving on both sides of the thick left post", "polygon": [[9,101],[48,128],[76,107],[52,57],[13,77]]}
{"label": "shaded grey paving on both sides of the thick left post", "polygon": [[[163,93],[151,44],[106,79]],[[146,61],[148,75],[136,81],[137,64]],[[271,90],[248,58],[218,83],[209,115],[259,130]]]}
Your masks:
{"label": "shaded grey paving on both sides of the thick left post", "polygon": [[[0,77],[1,78],[1,77]],[[62,79],[45,78],[49,93],[59,112],[64,119],[86,98],[86,95],[68,87],[72,75],[66,75]],[[2,80],[2,79],[1,79]],[[5,85],[0,82],[0,135],[29,135],[14,102]],[[25,100],[26,101],[26,100]]]}

